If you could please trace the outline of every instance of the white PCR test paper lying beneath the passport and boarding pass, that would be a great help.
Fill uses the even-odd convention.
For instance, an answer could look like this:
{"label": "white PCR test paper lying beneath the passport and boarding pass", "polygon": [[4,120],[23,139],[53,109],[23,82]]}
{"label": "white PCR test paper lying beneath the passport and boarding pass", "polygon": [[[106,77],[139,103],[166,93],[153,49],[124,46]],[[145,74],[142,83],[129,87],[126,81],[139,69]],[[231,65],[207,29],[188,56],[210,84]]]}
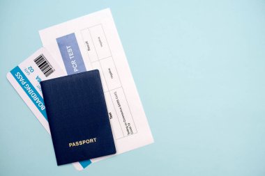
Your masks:
{"label": "white PCR test paper lying beneath the passport and boarding pass", "polygon": [[116,154],[153,143],[109,9],[43,29],[39,33],[43,46],[68,74],[93,69],[100,71]]}

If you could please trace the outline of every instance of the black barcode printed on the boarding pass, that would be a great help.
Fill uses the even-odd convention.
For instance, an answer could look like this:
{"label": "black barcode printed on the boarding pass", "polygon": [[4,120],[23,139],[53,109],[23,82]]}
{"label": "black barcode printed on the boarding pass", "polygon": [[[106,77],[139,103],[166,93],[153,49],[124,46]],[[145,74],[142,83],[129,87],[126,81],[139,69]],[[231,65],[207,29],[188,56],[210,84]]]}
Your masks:
{"label": "black barcode printed on the boarding pass", "polygon": [[49,75],[54,72],[54,68],[52,67],[52,65],[50,65],[43,54],[40,54],[40,56],[35,58],[34,62],[38,65],[45,77],[49,77]]}

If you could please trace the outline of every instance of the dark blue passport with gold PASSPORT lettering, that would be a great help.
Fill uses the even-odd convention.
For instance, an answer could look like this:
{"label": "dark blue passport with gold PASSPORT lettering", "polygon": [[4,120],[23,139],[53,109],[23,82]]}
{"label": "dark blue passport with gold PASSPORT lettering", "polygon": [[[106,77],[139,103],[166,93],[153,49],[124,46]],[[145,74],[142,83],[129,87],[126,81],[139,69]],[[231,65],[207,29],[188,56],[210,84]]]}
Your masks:
{"label": "dark blue passport with gold PASSPORT lettering", "polygon": [[116,153],[98,70],[40,86],[58,166]]}

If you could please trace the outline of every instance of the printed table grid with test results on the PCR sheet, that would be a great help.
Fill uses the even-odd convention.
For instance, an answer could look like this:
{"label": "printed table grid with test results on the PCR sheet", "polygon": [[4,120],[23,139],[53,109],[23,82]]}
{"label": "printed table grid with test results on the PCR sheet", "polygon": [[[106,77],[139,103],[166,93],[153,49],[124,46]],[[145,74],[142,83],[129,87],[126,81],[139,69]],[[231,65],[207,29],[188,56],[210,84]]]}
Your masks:
{"label": "printed table grid with test results on the PCR sheet", "polygon": [[[107,108],[108,110],[112,109],[112,112],[111,111],[109,112],[109,116],[112,115],[114,117],[114,118],[110,117],[110,121],[112,122],[112,125],[115,125],[115,126],[119,125],[119,128],[114,128],[114,127],[112,128],[114,129],[114,136],[116,140],[120,138],[124,138],[126,136],[130,136],[132,134],[137,134],[137,128],[135,127],[135,122],[132,117],[130,107],[128,105],[128,100],[126,98],[126,95],[123,90],[123,86],[121,84],[121,80],[119,78],[119,72],[117,71],[116,65],[112,58],[112,51],[109,48],[109,43],[107,42],[107,38],[106,38],[105,31],[103,29],[102,24],[98,24],[96,26],[91,26],[89,28],[82,29],[81,34],[82,34],[82,40],[84,42],[84,47],[86,47],[86,51],[87,51],[86,54],[89,57],[89,62],[91,63],[93,69],[100,70],[100,75],[103,77],[103,80],[102,80],[103,90],[104,90],[105,97],[106,97]],[[109,75],[106,75],[106,72],[103,71],[103,65],[105,61],[111,61],[110,64],[114,65],[114,67],[112,67],[113,70],[111,70],[110,68],[108,69],[109,74],[115,73],[117,77],[116,81],[118,81],[118,83],[114,83],[114,88],[109,88],[110,83],[112,83],[112,81],[107,81],[109,80],[107,78],[107,76]],[[119,92],[120,94],[117,95],[118,94],[117,92]],[[114,98],[114,95],[116,99]],[[119,107],[117,107],[116,105],[116,103],[119,104],[118,101],[120,100],[119,99],[120,97],[121,99],[125,99],[125,101],[123,101],[123,103],[125,104],[119,107],[122,107],[128,110],[127,112],[129,113],[129,115],[128,117],[126,116],[126,118],[124,118],[122,108],[120,109],[120,112],[119,112]],[[116,122],[115,122],[115,118],[116,118]],[[132,122],[130,122],[130,118]],[[130,123],[125,125],[126,122],[123,122],[124,119],[128,120]],[[130,125],[131,123],[132,125]],[[119,131],[117,131],[118,129]],[[127,131],[127,134],[126,134],[126,131]],[[132,134],[130,134],[131,131],[133,131]]]}

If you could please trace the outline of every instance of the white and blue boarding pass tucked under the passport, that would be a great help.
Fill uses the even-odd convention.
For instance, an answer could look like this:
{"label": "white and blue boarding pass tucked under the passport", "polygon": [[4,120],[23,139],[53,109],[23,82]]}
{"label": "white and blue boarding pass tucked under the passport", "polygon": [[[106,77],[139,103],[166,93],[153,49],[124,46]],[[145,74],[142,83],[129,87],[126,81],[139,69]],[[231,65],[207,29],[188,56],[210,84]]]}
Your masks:
{"label": "white and blue boarding pass tucked under the passport", "polygon": [[[40,81],[65,75],[66,72],[56,63],[45,48],[38,49],[6,75],[8,81],[10,81],[11,85],[49,134],[50,127],[47,121]],[[76,162],[73,165],[77,170],[82,170],[90,163],[91,161],[88,160]]]}

